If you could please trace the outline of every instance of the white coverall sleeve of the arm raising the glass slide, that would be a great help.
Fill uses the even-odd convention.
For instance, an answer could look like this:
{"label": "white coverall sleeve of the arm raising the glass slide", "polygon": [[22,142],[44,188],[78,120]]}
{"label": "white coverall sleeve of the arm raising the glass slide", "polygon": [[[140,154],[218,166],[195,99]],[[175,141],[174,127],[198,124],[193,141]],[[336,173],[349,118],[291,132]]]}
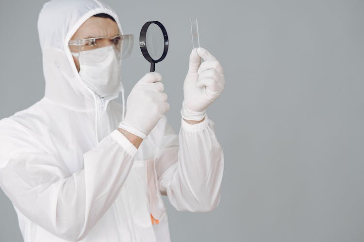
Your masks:
{"label": "white coverall sleeve of the arm raising the glass slide", "polygon": [[178,211],[207,212],[220,201],[223,150],[215,123],[207,116],[198,124],[182,119],[179,135],[169,124],[156,160],[159,188]]}

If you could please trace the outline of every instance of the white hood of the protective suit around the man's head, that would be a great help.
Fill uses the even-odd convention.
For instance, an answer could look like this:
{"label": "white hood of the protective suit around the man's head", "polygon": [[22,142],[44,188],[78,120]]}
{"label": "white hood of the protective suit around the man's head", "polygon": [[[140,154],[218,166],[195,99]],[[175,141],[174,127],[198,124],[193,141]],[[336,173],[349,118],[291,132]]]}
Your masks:
{"label": "white hood of the protective suit around the man's head", "polygon": [[[85,111],[95,108],[97,94],[77,72],[68,42],[88,18],[101,13],[114,17],[120,33],[123,33],[115,11],[98,0],[52,0],[40,11],[38,32],[46,80],[45,97],[68,109]],[[120,91],[125,106],[124,88],[120,81],[119,88],[104,98],[105,108]]]}

